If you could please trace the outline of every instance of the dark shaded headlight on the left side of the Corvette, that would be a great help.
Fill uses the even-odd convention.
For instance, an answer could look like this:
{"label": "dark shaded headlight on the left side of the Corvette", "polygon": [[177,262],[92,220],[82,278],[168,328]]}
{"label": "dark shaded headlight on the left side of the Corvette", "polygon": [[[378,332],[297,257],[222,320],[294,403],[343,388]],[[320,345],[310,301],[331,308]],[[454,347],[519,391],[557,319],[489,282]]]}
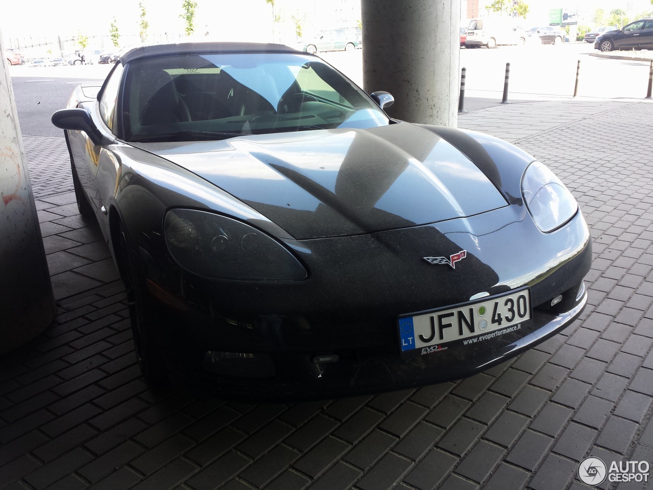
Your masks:
{"label": "dark shaded headlight on the left side of the Corvette", "polygon": [[199,276],[272,282],[307,276],[295,255],[277,240],[219,214],[170,210],[163,220],[163,235],[172,258]]}

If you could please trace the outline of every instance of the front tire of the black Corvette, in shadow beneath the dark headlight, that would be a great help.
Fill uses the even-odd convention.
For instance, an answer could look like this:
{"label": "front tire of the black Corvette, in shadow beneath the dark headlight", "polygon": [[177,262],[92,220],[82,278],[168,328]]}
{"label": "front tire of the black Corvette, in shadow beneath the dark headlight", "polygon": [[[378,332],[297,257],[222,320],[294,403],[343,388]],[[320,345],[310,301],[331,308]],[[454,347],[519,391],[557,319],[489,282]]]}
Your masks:
{"label": "front tire of the black Corvette, in shadow beneath the dark headlight", "polygon": [[142,275],[138,273],[136,252],[129,245],[123,228],[120,229],[119,239],[118,263],[127,293],[136,362],[146,382],[151,385],[166,384],[169,380],[168,369],[163,361],[157,339],[151,334],[155,314],[153,314],[150,295],[146,292]]}

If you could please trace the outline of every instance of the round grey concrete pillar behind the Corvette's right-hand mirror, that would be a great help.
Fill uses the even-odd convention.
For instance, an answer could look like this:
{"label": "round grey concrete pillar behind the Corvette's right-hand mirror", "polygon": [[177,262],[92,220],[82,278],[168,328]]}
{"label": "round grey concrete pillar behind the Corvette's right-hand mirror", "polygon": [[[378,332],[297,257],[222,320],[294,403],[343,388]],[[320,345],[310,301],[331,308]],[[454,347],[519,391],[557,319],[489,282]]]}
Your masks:
{"label": "round grey concrete pillar behind the Corvette's right-hand mirror", "polygon": [[458,123],[460,0],[362,0],[363,85],[394,95],[390,116]]}

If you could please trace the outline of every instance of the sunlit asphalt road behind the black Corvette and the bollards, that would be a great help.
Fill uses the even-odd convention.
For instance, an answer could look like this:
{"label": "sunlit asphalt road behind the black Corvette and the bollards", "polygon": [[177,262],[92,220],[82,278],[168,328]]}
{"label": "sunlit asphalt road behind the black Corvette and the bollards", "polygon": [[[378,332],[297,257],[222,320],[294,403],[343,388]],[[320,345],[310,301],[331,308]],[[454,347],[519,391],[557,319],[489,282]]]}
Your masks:
{"label": "sunlit asphalt road behind the black Corvette and the bollards", "polygon": [[[472,112],[501,102],[506,63],[511,63],[510,103],[571,97],[579,60],[579,97],[645,97],[648,63],[597,58],[590,56],[593,52],[592,45],[586,43],[500,46],[493,50],[462,48],[460,67],[467,69],[464,107]],[[321,56],[351,80],[362,85],[362,50],[323,53]],[[66,105],[72,86],[82,81],[101,82],[112,67],[113,65],[11,67],[22,133],[33,136],[61,135],[61,130],[50,123],[50,116]]]}

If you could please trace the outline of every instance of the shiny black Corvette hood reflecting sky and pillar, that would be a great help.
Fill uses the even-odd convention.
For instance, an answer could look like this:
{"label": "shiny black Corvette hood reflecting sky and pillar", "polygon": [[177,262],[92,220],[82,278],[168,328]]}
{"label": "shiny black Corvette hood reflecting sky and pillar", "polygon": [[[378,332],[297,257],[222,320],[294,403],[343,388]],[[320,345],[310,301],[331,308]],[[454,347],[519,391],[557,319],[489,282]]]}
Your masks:
{"label": "shiny black Corvette hood reflecting sky and pillar", "polygon": [[410,123],[133,145],[201,176],[300,240],[436,223],[507,205],[466,155]]}

